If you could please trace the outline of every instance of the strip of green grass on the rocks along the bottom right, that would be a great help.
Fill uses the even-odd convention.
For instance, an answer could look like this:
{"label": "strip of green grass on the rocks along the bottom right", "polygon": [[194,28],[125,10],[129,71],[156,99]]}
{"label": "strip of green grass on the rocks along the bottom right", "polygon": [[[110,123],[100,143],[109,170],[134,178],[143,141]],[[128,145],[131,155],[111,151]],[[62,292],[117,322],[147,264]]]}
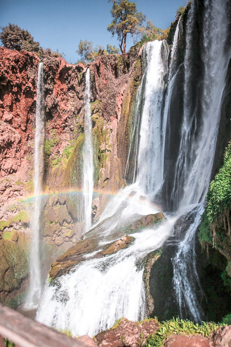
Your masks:
{"label": "strip of green grass on the rocks along the bottom right", "polygon": [[209,337],[212,330],[219,329],[222,323],[202,322],[201,325],[189,320],[172,318],[169,321],[158,322],[159,329],[146,339],[144,347],[162,347],[163,341],[172,334],[203,335]]}

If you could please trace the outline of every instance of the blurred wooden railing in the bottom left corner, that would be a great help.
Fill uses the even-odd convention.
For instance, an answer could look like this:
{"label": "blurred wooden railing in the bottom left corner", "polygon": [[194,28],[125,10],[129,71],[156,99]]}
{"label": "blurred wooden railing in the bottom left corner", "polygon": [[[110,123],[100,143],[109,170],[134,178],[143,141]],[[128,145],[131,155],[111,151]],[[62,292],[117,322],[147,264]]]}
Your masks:
{"label": "blurred wooden railing in the bottom left corner", "polygon": [[17,347],[89,347],[0,304],[0,347],[4,338]]}

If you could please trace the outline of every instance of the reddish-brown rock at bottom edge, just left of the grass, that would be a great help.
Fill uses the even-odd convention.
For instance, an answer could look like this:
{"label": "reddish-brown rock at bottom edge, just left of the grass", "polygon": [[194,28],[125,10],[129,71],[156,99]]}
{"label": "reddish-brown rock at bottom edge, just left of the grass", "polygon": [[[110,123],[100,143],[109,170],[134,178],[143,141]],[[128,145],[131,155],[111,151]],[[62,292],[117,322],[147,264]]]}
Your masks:
{"label": "reddish-brown rock at bottom edge, just left of the grass", "polygon": [[95,340],[99,347],[140,347],[158,327],[155,319],[137,323],[123,317],[115,327],[98,333]]}

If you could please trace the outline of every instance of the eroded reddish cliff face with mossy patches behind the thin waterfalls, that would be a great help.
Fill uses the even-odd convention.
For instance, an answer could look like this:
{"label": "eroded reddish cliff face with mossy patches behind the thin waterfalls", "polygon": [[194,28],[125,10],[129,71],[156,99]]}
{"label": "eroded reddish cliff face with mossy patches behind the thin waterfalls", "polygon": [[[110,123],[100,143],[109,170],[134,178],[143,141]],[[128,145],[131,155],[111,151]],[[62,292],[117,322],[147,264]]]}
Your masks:
{"label": "eroded reddish cliff face with mossy patches behind the thin waterfalls", "polygon": [[[0,247],[22,252],[23,275],[7,288],[0,268],[0,300],[15,300],[28,280],[28,245],[33,215],[34,138],[39,58],[26,51],[0,48]],[[142,49],[126,57],[100,56],[88,66],[61,58],[43,61],[45,139],[41,239],[44,266],[81,236],[76,193],[82,190],[85,74],[90,67],[92,140],[96,197],[94,220],[108,195],[124,184],[126,155],[132,129],[131,105],[142,74]],[[21,247],[24,243],[25,247]],[[23,251],[22,251],[23,249]],[[12,252],[11,252],[12,251]],[[15,257],[17,258],[17,257]],[[44,273],[47,272],[46,266]],[[13,276],[13,275],[12,275]],[[14,276],[13,276],[14,277]]]}

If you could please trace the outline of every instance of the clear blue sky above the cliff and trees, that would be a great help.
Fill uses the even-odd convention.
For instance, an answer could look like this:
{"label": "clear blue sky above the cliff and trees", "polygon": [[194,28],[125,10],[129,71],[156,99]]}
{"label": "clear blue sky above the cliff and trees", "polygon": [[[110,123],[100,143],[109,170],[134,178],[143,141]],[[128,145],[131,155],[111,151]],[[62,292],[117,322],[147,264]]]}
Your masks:
{"label": "clear blue sky above the cliff and trees", "polygon": [[[137,0],[137,10],[161,29],[175,20],[175,12],[184,0]],[[93,47],[118,46],[107,26],[112,22],[107,0],[1,0],[0,26],[17,24],[28,30],[43,48],[64,52],[67,62],[76,62],[80,40],[93,42]],[[133,44],[127,40],[127,49]]]}

